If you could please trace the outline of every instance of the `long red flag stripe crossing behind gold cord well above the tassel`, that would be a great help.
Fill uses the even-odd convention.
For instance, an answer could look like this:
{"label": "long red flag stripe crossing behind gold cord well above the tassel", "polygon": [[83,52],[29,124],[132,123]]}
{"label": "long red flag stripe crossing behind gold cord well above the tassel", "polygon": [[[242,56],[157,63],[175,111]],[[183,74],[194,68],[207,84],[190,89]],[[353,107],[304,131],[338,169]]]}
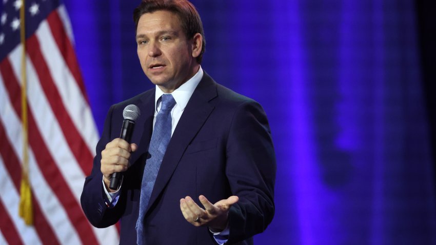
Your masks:
{"label": "long red flag stripe crossing behind gold cord well above the tassel", "polygon": [[[41,62],[41,61],[40,61]],[[3,63],[2,63],[3,64]],[[11,77],[12,78],[12,77]],[[9,94],[19,91],[18,80],[8,80],[5,84]],[[12,103],[14,109],[17,112],[16,105],[19,103]],[[28,105],[30,108],[30,105]],[[18,114],[18,113],[17,113]],[[28,123],[29,123],[29,144],[33,150],[36,158],[36,162],[47,180],[48,185],[53,190],[54,194],[58,197],[58,200],[62,203],[71,223],[75,227],[78,236],[81,238],[84,244],[97,244],[96,237],[92,232],[91,226],[87,221],[84,213],[78,202],[74,199],[73,193],[69,189],[66,180],[63,178],[61,172],[57,169],[57,166],[47,149],[41,133],[35,123],[33,113],[28,111]]]}

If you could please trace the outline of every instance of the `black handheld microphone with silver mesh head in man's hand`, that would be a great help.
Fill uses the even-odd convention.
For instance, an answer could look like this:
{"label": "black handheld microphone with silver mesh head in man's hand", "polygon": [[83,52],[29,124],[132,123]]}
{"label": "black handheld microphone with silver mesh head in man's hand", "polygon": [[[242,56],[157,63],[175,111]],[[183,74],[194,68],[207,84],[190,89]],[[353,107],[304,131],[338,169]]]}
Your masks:
{"label": "black handheld microphone with silver mesh head in man's hand", "polygon": [[[135,105],[128,105],[123,110],[123,127],[121,127],[120,138],[126,140],[130,144],[132,138],[133,128],[135,127],[135,120],[141,115],[140,109]],[[110,177],[109,188],[117,190],[120,185],[120,178],[123,175],[122,172],[113,173]]]}

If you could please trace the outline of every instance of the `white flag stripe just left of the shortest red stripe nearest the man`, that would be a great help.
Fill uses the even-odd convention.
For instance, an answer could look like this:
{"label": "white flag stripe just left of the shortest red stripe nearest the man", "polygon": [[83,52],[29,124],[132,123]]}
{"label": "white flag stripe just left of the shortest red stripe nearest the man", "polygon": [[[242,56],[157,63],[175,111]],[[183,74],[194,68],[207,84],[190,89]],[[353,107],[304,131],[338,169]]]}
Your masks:
{"label": "white flag stripe just left of the shortest red stripe nearest the man", "polygon": [[47,21],[41,23],[36,31],[36,36],[65,109],[75,127],[80,129],[78,132],[85,140],[90,152],[95,155],[98,134],[91,109],[58,49]]}

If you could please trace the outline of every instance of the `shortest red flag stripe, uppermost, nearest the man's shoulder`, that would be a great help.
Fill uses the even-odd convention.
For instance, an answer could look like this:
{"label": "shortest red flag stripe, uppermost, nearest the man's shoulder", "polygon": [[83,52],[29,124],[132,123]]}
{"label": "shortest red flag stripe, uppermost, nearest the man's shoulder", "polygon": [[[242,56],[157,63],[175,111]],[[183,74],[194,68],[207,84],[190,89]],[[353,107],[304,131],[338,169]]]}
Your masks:
{"label": "shortest red flag stripe, uppermost, nearest the man's shoulder", "polygon": [[50,26],[51,33],[57,44],[57,48],[59,49],[59,51],[61,51],[65,63],[70,69],[71,74],[76,80],[77,86],[82,91],[82,94],[89,105],[88,96],[85,91],[85,84],[83,82],[82,73],[80,72],[80,67],[77,63],[74,48],[70,42],[70,39],[68,38],[67,33],[65,32],[64,26],[62,24],[62,19],[57,11],[53,11],[47,16],[47,22]]}

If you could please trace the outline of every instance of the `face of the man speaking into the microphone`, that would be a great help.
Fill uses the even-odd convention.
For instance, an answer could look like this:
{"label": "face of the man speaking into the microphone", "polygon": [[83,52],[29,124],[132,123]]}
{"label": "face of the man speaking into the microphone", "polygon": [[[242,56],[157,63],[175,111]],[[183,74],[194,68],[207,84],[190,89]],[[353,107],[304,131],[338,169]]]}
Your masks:
{"label": "face of the man speaking into the microphone", "polygon": [[179,17],[172,12],[155,11],[141,16],[136,29],[137,52],[142,69],[153,84],[164,91],[174,90],[195,74],[194,39],[186,37]]}

